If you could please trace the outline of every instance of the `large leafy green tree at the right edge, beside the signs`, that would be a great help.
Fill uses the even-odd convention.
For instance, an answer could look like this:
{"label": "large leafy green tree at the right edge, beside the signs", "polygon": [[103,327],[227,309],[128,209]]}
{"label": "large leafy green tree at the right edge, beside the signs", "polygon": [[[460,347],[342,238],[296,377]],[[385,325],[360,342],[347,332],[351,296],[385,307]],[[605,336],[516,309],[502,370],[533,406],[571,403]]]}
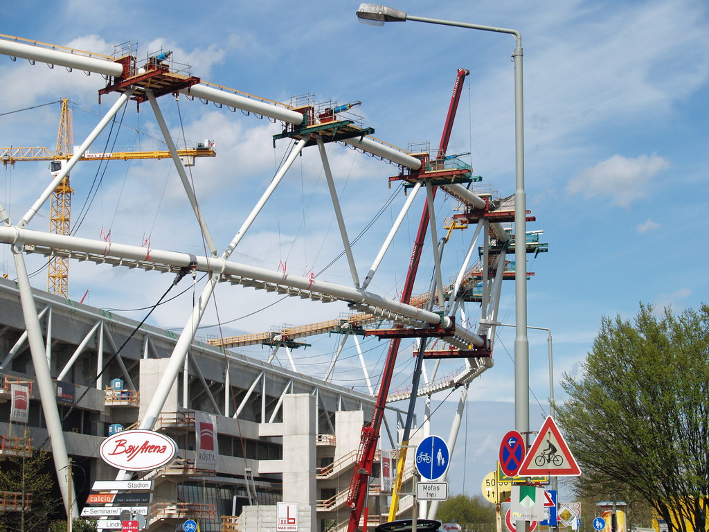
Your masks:
{"label": "large leafy green tree at the right edge, beside the signs", "polygon": [[704,531],[709,491],[709,306],[674,315],[640,304],[603,318],[557,421],[581,493],[640,498],[670,531]]}

